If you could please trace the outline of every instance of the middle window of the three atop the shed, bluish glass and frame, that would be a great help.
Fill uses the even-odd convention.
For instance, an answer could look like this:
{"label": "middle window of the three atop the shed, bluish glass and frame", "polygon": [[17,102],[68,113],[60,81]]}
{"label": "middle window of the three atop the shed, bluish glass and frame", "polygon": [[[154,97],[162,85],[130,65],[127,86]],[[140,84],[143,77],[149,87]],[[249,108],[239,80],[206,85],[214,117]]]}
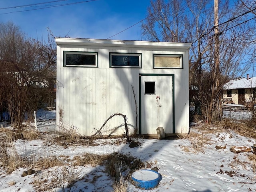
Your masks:
{"label": "middle window of the three atop the shed, bluish glass and frame", "polygon": [[110,67],[141,68],[141,53],[109,53]]}

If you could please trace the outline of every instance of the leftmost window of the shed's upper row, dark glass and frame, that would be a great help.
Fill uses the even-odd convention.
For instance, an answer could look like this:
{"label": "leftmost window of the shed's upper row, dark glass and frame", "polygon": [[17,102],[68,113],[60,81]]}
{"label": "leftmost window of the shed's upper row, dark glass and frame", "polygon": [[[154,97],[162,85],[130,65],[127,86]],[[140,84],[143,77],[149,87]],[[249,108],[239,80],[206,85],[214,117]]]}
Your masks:
{"label": "leftmost window of the shed's upper row, dark glass and frame", "polygon": [[64,51],[64,66],[66,67],[97,67],[98,52]]}

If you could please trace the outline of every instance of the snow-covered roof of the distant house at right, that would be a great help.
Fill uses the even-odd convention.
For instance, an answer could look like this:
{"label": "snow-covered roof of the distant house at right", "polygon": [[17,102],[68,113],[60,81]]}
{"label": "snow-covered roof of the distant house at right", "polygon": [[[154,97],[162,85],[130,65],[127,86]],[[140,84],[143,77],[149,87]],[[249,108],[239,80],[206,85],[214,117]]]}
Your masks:
{"label": "snow-covered roof of the distant house at right", "polygon": [[256,77],[237,78],[234,80],[230,80],[230,82],[226,83],[223,88],[224,90],[256,88]]}

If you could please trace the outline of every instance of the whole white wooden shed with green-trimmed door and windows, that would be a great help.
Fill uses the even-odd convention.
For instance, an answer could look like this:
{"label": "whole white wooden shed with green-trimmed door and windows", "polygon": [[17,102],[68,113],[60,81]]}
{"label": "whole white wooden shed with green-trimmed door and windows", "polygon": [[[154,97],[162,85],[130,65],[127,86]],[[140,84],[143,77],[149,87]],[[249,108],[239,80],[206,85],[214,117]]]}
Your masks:
{"label": "whole white wooden shed with green-trimmed door and windows", "polygon": [[[190,43],[55,38],[56,121],[94,134],[116,113],[129,132],[155,135],[189,132]],[[114,116],[102,135],[123,134]]]}

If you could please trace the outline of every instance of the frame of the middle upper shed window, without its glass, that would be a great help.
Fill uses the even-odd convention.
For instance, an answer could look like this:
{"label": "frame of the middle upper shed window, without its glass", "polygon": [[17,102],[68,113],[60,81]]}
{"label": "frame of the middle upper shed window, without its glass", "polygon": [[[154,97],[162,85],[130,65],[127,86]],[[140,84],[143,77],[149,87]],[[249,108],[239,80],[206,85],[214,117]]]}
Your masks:
{"label": "frame of the middle upper shed window, without its glass", "polygon": [[[112,56],[138,56],[139,63],[138,66],[127,66],[127,65],[112,65]],[[110,52],[109,53],[109,67],[110,68],[142,68],[142,53],[118,53]]]}

